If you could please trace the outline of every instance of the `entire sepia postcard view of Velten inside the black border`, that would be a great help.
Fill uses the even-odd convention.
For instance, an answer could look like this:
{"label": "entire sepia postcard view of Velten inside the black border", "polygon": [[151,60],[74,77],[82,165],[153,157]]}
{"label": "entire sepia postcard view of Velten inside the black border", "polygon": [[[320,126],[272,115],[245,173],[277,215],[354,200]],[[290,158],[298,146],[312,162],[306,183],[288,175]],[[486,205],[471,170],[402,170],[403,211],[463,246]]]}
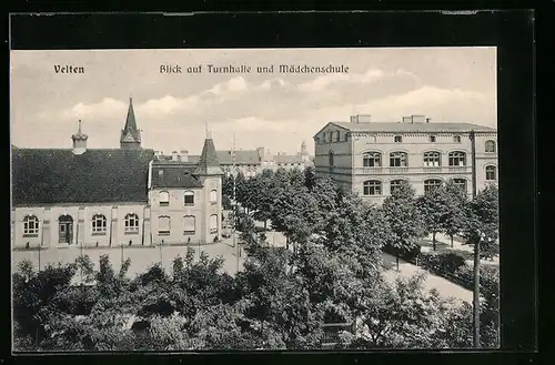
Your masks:
{"label": "entire sepia postcard view of Velten inside the black border", "polygon": [[12,351],[500,348],[496,60],[10,51]]}

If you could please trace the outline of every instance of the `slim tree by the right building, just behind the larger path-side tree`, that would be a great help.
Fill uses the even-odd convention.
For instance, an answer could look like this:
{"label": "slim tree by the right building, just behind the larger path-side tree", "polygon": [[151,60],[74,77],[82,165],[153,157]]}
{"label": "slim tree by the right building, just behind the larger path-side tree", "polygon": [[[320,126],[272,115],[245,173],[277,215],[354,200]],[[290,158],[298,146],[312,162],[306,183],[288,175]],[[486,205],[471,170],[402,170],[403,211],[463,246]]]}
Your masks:
{"label": "slim tree by the right building, just behind the larger path-side tree", "polygon": [[446,192],[443,186],[431,189],[417,200],[417,206],[426,232],[432,233],[432,246],[436,251],[435,235],[442,230],[447,213]]}

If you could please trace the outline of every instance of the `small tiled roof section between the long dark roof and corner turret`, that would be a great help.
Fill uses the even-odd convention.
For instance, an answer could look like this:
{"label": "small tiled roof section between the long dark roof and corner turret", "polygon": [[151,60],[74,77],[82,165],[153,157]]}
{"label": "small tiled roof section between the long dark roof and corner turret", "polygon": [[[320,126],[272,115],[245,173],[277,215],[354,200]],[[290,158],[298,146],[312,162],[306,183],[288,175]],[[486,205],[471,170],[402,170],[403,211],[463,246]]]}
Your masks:
{"label": "small tiled roof section between the long dark roof and corner turret", "polygon": [[152,164],[152,187],[202,187],[200,180],[193,175],[193,164],[179,162],[154,162]]}

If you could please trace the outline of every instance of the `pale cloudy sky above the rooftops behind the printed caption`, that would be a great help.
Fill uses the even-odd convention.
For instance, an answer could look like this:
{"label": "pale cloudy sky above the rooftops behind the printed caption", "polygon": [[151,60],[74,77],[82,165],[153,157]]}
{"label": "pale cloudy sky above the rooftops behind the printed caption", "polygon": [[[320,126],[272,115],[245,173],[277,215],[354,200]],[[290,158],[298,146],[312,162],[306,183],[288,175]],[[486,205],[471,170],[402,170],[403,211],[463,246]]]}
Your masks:
{"label": "pale cloudy sky above the rooftops behind the printed caption", "polygon": [[[296,153],[330,121],[371,114],[396,122],[497,125],[495,48],[213,49],[11,51],[11,141],[19,148],[71,148],[82,120],[88,146],[119,148],[129,98],[142,146],[200,154],[211,131],[218,150],[264,146]],[[61,74],[54,65],[83,67]],[[160,73],[180,65],[181,74]],[[202,64],[202,73],[186,68]],[[208,73],[206,65],[253,72]],[[256,67],[274,65],[273,73]],[[279,73],[280,64],[349,67],[349,73]]]}

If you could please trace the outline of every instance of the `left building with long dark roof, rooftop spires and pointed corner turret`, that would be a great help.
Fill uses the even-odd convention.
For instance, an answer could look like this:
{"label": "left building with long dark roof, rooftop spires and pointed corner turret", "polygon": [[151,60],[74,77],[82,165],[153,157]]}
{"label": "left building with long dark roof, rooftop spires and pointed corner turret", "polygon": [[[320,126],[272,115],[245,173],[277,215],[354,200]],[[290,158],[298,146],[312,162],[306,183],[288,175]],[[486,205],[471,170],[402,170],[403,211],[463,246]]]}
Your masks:
{"label": "left building with long dark roof, rooftop spires and pointed corner turret", "polygon": [[214,242],[222,175],[206,135],[194,164],[159,161],[141,148],[130,100],[120,149],[12,148],[12,245],[119,246]]}

